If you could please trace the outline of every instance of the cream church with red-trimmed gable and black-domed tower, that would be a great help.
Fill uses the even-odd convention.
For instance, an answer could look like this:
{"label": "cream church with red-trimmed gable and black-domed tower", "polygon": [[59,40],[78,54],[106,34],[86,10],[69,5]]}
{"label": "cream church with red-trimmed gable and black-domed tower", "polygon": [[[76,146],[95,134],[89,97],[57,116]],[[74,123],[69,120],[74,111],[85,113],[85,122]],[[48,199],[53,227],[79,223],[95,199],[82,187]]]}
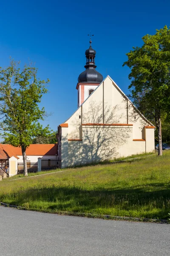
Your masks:
{"label": "cream church with red-trimmed gable and black-domed tower", "polygon": [[78,109],[58,126],[62,168],[153,152],[155,126],[133,105],[119,86],[96,71],[96,51],[85,51],[78,78]]}

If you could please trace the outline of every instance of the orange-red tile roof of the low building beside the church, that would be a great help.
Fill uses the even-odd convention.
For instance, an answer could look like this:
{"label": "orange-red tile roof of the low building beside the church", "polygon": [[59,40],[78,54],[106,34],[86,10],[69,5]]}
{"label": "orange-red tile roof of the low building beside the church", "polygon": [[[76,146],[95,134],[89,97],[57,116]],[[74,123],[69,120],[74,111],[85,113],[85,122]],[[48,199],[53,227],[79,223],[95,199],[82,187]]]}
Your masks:
{"label": "orange-red tile roof of the low building beside the church", "polygon": [[[15,155],[22,155],[22,150],[20,147],[14,147],[9,144],[0,144],[5,145],[8,151],[13,152]],[[26,149],[27,156],[53,156],[57,154],[57,144],[31,144]]]}

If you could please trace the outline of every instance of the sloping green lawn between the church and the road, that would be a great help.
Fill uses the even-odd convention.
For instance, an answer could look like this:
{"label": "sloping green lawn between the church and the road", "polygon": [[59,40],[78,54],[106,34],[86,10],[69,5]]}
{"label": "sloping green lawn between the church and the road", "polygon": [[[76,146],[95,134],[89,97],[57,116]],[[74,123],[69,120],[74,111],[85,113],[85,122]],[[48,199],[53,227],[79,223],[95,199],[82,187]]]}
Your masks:
{"label": "sloping green lawn between the church and the road", "polygon": [[52,213],[168,218],[170,151],[164,151],[162,157],[65,171],[12,182],[3,180],[0,201]]}

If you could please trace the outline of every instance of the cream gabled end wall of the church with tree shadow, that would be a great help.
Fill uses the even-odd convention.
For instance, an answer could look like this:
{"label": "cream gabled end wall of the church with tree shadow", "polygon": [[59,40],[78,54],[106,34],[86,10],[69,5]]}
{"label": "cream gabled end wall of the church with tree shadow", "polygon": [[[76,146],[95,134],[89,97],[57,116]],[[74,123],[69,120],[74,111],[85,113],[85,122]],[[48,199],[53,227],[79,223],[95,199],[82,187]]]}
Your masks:
{"label": "cream gabled end wall of the church with tree shadow", "polygon": [[[150,124],[139,116],[109,77],[65,123],[68,123],[68,134],[64,131],[63,140],[66,128],[62,128],[62,168],[154,150],[154,129],[145,132],[144,126]],[[95,125],[103,123],[124,125]],[[77,141],[67,141],[71,139]]]}

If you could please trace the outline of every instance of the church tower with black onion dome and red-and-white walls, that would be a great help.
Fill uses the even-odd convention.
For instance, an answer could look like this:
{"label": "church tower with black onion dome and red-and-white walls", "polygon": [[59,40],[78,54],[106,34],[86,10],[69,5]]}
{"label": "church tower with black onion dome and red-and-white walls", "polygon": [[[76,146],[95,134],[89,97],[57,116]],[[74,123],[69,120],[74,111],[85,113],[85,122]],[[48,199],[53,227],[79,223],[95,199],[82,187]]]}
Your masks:
{"label": "church tower with black onion dome and red-and-white walls", "polygon": [[78,108],[93,93],[96,87],[102,82],[103,76],[96,71],[95,55],[96,51],[91,47],[85,51],[86,64],[85,71],[83,71],[78,78],[76,89],[78,90]]}

